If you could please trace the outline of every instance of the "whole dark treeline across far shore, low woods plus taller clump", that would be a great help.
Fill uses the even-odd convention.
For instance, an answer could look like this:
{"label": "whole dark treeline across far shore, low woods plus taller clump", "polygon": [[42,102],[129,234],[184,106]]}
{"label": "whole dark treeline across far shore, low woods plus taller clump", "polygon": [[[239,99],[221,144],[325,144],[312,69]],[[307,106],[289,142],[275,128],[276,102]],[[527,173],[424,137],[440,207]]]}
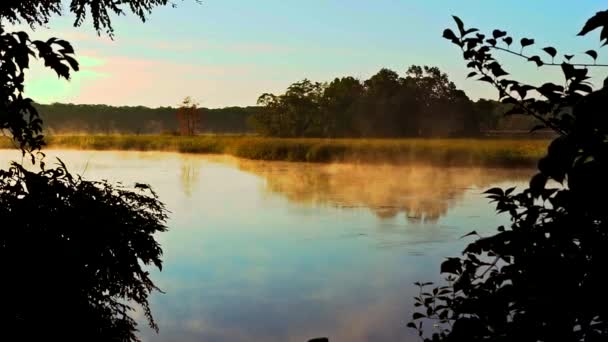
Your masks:
{"label": "whole dark treeline across far shore, low woods plus taller clump", "polygon": [[[51,134],[179,134],[179,108],[37,104]],[[405,75],[381,69],[368,80],[303,80],[257,106],[198,108],[196,133],[272,137],[476,137],[525,134],[533,121],[504,116],[510,105],[471,100],[436,67]]]}

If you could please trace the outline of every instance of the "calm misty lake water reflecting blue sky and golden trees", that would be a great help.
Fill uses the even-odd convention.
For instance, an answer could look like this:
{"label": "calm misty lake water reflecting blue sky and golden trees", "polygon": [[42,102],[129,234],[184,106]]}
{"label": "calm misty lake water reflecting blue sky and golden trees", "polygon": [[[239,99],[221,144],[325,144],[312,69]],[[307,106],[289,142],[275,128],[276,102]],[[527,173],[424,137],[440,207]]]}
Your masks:
{"label": "calm misty lake water reflecting blue sky and golden trees", "polygon": [[[152,298],[160,334],[142,326],[144,341],[415,341],[405,328],[412,283],[436,280],[442,257],[466,243],[460,236],[504,221],[484,188],[527,175],[55,154],[88,179],[150,183],[172,212],[154,273],[166,292]],[[19,155],[0,154],[9,157]],[[425,215],[433,220],[412,218]]]}

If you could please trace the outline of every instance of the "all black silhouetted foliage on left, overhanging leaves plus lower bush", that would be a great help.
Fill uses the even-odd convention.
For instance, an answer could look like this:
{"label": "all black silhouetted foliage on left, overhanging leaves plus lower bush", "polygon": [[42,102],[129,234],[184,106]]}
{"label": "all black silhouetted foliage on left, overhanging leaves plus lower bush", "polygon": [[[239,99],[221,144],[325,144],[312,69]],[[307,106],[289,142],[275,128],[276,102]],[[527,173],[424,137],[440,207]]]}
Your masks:
{"label": "all black silhouetted foliage on left, overhanging leaves plus lower bush", "polygon": [[[30,40],[5,23],[46,24],[62,1],[3,1],[0,5],[0,128],[8,131],[39,172],[19,164],[0,171],[0,339],[20,341],[135,341],[139,305],[152,328],[148,296],[155,290],[146,265],[161,267],[166,209],[143,184],[133,188],[72,176],[65,165],[46,169],[42,120],[23,97],[30,59],[61,78],[78,70],[64,40]],[[145,19],[162,0],[72,0],[76,25],[90,15],[112,34],[110,13],[129,10]],[[36,153],[39,152],[39,153]]]}

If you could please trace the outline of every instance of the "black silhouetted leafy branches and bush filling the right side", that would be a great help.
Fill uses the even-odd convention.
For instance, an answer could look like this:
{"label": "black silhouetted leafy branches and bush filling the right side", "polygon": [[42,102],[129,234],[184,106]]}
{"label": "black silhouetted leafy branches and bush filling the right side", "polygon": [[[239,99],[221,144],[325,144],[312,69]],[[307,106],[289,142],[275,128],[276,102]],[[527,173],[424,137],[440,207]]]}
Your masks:
{"label": "black silhouetted leafy branches and bush filling the right side", "polygon": [[[587,51],[593,64],[573,63],[557,50],[526,55],[534,39],[514,39],[494,30],[486,38],[454,17],[457,33],[444,37],[458,45],[470,76],[494,86],[512,112],[534,117],[539,127],[559,134],[538,162],[538,173],[521,192],[490,189],[497,211],[511,217],[495,235],[469,244],[463,256],[441,265],[447,285],[430,289],[420,284],[418,311],[408,326],[425,341],[604,341],[608,338],[608,295],[604,273],[608,264],[608,89],[593,91],[590,67],[597,52]],[[599,12],[580,35],[601,29],[608,40],[608,11]],[[506,47],[503,47],[506,46]],[[540,86],[509,79],[495,51],[518,55],[540,66],[560,67],[565,84]],[[477,235],[472,232],[469,235]],[[425,329],[433,324],[434,329]]]}

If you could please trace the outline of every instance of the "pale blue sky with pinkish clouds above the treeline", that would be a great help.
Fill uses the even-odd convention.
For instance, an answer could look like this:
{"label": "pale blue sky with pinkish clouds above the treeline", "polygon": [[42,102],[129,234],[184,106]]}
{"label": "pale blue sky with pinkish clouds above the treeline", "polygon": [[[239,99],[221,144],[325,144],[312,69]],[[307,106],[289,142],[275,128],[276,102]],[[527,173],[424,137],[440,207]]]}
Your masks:
{"label": "pale blue sky with pinkish clouds above the treeline", "polygon": [[[606,9],[603,0],[176,3],[176,8],[157,8],[145,24],[132,15],[115,17],[114,40],[98,36],[86,23],[74,28],[68,13],[54,18],[34,37],[72,42],[81,71],[66,82],[35,65],[27,75],[26,95],[40,103],[160,107],[192,96],[210,108],[247,106],[255,105],[262,93],[281,93],[304,78],[366,79],[384,67],[403,74],[416,64],[439,67],[473,99],[496,98],[486,84],[466,79],[460,50],[441,38],[445,28],[454,27],[451,15],[466,26],[485,32],[504,29],[516,41],[534,38],[537,49],[551,45],[590,62],[582,53],[599,51],[599,34],[576,34],[587,18]],[[538,69],[509,56],[503,61],[523,81],[562,80],[559,68]]]}

